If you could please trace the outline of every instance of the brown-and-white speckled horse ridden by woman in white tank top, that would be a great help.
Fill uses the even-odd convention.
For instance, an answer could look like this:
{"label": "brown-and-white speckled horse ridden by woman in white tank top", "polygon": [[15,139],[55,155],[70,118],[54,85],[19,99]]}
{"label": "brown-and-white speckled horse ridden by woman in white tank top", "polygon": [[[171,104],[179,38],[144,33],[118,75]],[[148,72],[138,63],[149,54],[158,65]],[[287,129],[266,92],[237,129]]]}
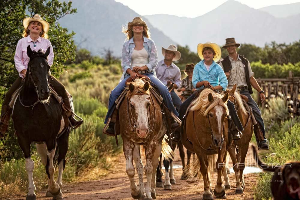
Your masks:
{"label": "brown-and-white speckled horse ridden by woman in white tank top", "polygon": [[[149,91],[151,85],[141,79],[135,79],[127,85],[129,85],[129,91],[119,108],[119,116],[122,116],[122,120],[119,118],[119,128],[116,131],[120,131],[123,139],[131,196],[134,199],[156,199],[155,175],[167,126],[163,121],[158,101]],[[146,151],[146,190],[143,185],[144,166],[140,157],[141,144],[144,145]],[[168,147],[168,145],[165,146]],[[169,152],[171,151],[170,149]],[[133,160],[139,175],[139,188],[134,182]]]}

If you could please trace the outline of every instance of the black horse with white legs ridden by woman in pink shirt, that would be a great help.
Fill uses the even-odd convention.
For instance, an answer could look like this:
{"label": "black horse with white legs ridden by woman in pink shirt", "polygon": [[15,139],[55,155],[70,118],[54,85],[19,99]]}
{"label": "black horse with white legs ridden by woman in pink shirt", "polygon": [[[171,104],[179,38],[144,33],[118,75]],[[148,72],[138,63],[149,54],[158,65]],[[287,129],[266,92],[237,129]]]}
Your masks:
{"label": "black horse with white legs ridden by woman in pink shirt", "polygon": [[[47,63],[50,47],[44,54],[27,47],[30,58],[26,80],[13,106],[13,124],[18,143],[26,160],[28,174],[28,194],[26,200],[36,199],[33,182],[34,162],[30,157],[30,144],[38,142],[37,149],[46,164],[49,192],[53,199],[63,199],[61,178],[65,166],[70,128],[64,128],[63,111],[58,101],[51,95],[49,88],[49,70]],[[45,144],[45,145],[44,145]],[[59,151],[55,151],[59,148]],[[53,158],[58,153],[58,181],[54,181]],[[56,157],[56,156],[55,156]]]}

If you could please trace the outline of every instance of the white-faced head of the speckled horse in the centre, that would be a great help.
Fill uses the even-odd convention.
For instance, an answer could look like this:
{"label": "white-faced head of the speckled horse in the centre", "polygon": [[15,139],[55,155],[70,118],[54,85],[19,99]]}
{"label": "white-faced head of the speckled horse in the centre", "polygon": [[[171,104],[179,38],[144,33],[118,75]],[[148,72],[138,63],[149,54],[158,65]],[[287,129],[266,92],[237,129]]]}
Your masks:
{"label": "white-faced head of the speckled horse in the centre", "polygon": [[148,121],[150,115],[149,83],[138,79],[129,84],[130,111],[140,138],[146,138],[149,133]]}

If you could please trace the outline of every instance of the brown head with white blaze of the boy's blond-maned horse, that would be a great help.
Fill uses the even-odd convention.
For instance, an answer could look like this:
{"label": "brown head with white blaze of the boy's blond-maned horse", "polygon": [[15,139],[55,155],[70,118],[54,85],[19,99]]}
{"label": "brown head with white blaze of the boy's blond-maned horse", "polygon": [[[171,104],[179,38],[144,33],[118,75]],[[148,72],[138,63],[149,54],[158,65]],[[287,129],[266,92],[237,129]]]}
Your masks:
{"label": "brown head with white blaze of the boy's blond-maned horse", "polygon": [[224,105],[227,102],[228,97],[229,94],[226,94],[222,98],[213,97],[212,93],[208,94],[210,105],[208,106],[207,118],[211,127],[213,143],[217,147],[220,147],[224,141],[223,127],[228,114]]}

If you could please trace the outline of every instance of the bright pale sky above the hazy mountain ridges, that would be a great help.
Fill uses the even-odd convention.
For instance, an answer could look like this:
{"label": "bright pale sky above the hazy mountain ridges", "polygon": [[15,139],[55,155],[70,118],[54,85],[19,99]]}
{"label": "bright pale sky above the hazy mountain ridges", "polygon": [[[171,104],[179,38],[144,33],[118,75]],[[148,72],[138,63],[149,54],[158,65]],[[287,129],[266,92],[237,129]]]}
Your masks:
{"label": "bright pale sky above the hazy mountain ridges", "polygon": [[[226,2],[226,0],[115,0],[127,5],[140,15],[170,14],[185,17],[197,17],[208,13]],[[291,4],[299,0],[237,0],[253,8],[270,5]]]}

